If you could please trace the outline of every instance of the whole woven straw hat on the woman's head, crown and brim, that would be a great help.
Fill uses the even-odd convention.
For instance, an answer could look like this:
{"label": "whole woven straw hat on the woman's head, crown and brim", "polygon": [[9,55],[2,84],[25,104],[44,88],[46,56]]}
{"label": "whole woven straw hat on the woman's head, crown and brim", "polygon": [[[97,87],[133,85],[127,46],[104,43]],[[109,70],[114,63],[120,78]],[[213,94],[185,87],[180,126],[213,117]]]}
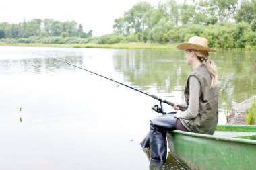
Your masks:
{"label": "whole woven straw hat on the woman's head, crown and brim", "polygon": [[207,52],[217,52],[217,50],[208,48],[208,40],[199,36],[189,38],[189,42],[177,45],[178,50],[201,50]]}

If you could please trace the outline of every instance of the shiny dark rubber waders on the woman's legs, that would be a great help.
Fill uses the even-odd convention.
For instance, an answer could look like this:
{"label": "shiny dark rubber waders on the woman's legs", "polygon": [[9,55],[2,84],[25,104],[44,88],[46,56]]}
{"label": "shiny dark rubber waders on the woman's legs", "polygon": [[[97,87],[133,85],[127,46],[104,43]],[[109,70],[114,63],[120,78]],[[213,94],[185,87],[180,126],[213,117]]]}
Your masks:
{"label": "shiny dark rubber waders on the woman's legs", "polygon": [[150,120],[150,132],[141,142],[143,148],[150,148],[150,160],[166,161],[166,132],[176,129],[177,118],[174,117],[175,113],[163,114],[154,118],[154,120]]}

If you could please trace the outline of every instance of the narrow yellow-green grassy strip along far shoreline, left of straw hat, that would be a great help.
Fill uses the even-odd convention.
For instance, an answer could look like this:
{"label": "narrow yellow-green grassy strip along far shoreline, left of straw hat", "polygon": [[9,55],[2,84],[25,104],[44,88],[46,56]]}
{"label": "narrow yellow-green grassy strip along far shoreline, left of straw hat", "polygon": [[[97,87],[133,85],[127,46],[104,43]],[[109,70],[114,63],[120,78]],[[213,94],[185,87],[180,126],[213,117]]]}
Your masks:
{"label": "narrow yellow-green grassy strip along far shoreline, left of straw hat", "polygon": [[67,48],[113,48],[113,49],[150,49],[150,50],[176,50],[177,44],[153,44],[153,43],[118,43],[118,44],[5,44],[0,46],[44,46],[44,47],[67,47]]}

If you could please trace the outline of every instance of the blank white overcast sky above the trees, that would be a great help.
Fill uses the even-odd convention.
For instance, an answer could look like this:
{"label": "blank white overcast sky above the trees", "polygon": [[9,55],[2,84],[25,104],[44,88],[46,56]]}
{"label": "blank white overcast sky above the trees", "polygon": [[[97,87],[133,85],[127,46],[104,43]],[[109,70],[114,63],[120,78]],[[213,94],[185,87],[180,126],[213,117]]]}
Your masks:
{"label": "blank white overcast sky above the trees", "polygon": [[0,22],[18,24],[34,18],[75,20],[84,26],[84,32],[92,30],[93,36],[102,36],[112,33],[114,19],[123,17],[140,1],[155,6],[160,0],[0,0]]}

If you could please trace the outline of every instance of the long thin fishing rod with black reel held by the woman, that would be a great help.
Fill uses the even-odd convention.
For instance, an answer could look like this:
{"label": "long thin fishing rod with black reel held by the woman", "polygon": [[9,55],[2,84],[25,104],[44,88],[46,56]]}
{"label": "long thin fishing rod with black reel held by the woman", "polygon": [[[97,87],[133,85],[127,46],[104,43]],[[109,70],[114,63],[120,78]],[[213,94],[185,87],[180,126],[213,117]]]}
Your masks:
{"label": "long thin fishing rod with black reel held by the woman", "polygon": [[[166,101],[165,99],[162,99],[162,98],[160,98],[160,97],[158,97],[158,96],[156,96],[156,95],[150,95],[149,93],[145,93],[145,92],[143,92],[143,91],[140,91],[139,89],[135,89],[134,87],[131,87],[131,86],[129,86],[129,85],[125,85],[124,83],[121,83],[121,82],[119,82],[119,81],[115,81],[115,80],[113,80],[113,79],[110,79],[110,78],[108,78],[108,77],[105,77],[105,76],[103,76],[103,75],[100,75],[100,74],[98,74],[98,73],[95,73],[95,72],[93,72],[93,71],[89,71],[88,69],[84,69],[84,68],[79,67],[79,66],[77,66],[77,65],[73,65],[73,64],[71,64],[71,63],[69,63],[69,62],[67,62],[67,61],[65,61],[65,60],[60,60],[60,59],[58,59],[58,58],[54,58],[54,57],[51,57],[51,56],[47,56],[47,55],[45,55],[45,54],[39,54],[39,53],[37,53],[37,52],[34,52],[34,54],[38,54],[38,55],[41,55],[41,56],[46,56],[46,57],[48,57],[48,58],[52,58],[52,59],[57,60],[57,61],[59,61],[59,62],[66,63],[67,65],[71,65],[71,66],[73,66],[73,67],[77,67],[77,68],[82,69],[82,70],[84,70],[84,71],[88,71],[89,73],[92,73],[92,74],[94,74],[94,75],[98,75],[98,76],[103,77],[104,79],[108,79],[108,80],[110,80],[110,81],[114,81],[115,83],[118,83],[118,84],[120,84],[120,85],[123,85],[123,86],[125,86],[125,87],[128,87],[129,89],[133,89],[133,90],[135,90],[135,91],[138,91],[139,93],[143,93],[144,95],[148,95],[148,96],[152,97],[153,99],[156,99],[156,100],[160,101],[160,106],[161,106],[161,107],[159,107],[158,105],[154,105],[154,106],[152,107],[152,109],[153,109],[154,111],[158,112],[158,113],[166,114],[166,112],[164,112],[164,109],[162,108],[162,103],[166,103],[166,104],[168,104],[168,105],[174,106],[174,103],[172,103],[172,102],[170,102],[170,101]],[[179,106],[179,108],[180,108],[180,110],[182,110],[182,111],[187,110],[186,107]]]}

